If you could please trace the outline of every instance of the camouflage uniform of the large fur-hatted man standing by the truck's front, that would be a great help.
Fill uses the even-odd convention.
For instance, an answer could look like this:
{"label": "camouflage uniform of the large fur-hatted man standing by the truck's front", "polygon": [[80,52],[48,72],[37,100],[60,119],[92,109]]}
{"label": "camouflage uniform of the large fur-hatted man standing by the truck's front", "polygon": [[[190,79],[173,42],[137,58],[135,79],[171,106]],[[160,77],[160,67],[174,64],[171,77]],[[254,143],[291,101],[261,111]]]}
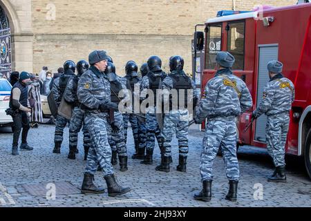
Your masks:
{"label": "camouflage uniform of the large fur-hatted man standing by the truck's front", "polygon": [[202,122],[205,118],[208,121],[200,164],[203,182],[213,180],[212,166],[219,147],[223,151],[227,178],[238,181],[240,173],[236,157],[236,117],[250,107],[252,97],[247,86],[229,68],[218,70],[215,77],[207,82],[196,113],[197,122]]}

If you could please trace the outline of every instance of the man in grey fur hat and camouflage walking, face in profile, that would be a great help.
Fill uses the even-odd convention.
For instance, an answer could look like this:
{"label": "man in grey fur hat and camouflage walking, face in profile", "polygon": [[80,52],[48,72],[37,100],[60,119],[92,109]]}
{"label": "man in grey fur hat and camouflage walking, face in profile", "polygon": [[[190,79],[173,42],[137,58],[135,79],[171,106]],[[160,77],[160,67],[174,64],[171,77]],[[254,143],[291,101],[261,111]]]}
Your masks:
{"label": "man in grey fur hat and camouflage walking, face in profile", "polygon": [[88,55],[90,68],[78,81],[77,97],[86,111],[84,122],[91,135],[92,145],[88,151],[86,171],[82,183],[82,193],[104,193],[104,189],[93,184],[97,163],[100,163],[108,187],[108,195],[115,196],[129,192],[129,187],[117,184],[111,165],[111,146],[109,146],[106,125],[111,109],[117,111],[117,104],[111,102],[109,80],[104,71],[107,66],[104,50],[95,50]]}

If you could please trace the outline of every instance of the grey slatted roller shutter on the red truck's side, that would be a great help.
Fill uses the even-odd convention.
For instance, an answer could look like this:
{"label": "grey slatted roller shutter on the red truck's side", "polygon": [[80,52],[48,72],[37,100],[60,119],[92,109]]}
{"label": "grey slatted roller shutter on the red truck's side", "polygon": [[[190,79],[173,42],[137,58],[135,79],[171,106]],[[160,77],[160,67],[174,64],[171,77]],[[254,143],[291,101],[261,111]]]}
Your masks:
{"label": "grey slatted roller shutter on the red truck's side", "polygon": [[[271,60],[278,59],[279,46],[277,44],[259,45],[258,46],[258,81],[257,81],[257,104],[258,107],[263,97],[263,88],[270,80],[267,64]],[[267,117],[261,115],[256,120],[255,139],[258,142],[265,143],[265,124],[267,123]]]}

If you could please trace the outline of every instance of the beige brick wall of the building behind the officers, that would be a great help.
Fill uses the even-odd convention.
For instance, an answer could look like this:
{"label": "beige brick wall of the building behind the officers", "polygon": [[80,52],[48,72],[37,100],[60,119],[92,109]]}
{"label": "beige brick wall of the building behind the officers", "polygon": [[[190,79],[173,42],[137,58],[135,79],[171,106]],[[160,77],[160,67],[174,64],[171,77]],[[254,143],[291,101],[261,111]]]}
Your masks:
{"label": "beige brick wall of the building behind the officers", "polygon": [[[236,10],[293,3],[236,0]],[[142,64],[150,55],[159,55],[164,64],[171,55],[182,55],[191,73],[194,26],[232,6],[232,0],[32,0],[34,72],[42,66],[55,71],[66,59],[87,59],[91,50],[105,49],[121,75],[126,61]]]}

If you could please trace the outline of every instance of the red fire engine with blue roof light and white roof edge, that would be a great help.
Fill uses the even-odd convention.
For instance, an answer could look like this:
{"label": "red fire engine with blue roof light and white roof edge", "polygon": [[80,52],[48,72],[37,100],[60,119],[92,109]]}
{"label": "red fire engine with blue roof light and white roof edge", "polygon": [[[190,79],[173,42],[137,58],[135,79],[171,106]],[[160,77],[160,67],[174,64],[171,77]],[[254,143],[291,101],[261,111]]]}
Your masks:
{"label": "red fire engine with blue roof light and white roof edge", "polygon": [[303,156],[311,177],[311,3],[256,12],[221,11],[204,26],[205,33],[196,31],[194,35],[196,51],[205,48],[201,93],[216,72],[217,52],[227,50],[236,58],[234,74],[245,81],[252,94],[254,106],[238,122],[240,145],[266,147],[265,115],[245,133],[244,129],[269,81],[268,61],[278,59],[284,64],[283,75],[292,80],[296,89],[285,152]]}

